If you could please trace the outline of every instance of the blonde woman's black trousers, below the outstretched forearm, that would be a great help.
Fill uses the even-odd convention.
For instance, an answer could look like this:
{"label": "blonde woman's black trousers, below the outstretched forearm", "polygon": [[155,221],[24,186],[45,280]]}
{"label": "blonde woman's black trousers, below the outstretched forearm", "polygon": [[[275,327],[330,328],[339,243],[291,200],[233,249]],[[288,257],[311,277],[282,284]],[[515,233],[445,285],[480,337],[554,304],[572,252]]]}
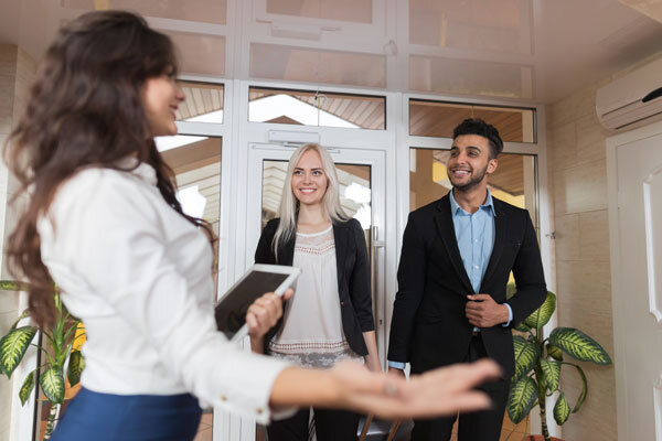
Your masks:
{"label": "blonde woman's black trousers, below the outstretched forearm", "polygon": [[[355,441],[360,416],[346,410],[313,409],[318,441]],[[308,441],[310,409],[299,410],[293,417],[273,421],[267,427],[269,441]]]}

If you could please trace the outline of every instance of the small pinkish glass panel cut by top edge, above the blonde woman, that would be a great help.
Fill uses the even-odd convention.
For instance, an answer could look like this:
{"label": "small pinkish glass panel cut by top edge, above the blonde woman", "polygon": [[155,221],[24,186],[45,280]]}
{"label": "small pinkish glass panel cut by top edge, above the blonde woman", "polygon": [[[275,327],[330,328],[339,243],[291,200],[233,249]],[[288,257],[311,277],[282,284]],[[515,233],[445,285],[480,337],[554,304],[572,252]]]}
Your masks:
{"label": "small pinkish glass panel cut by top edge, above the blonde woman", "polygon": [[267,12],[311,19],[371,23],[372,0],[267,0]]}

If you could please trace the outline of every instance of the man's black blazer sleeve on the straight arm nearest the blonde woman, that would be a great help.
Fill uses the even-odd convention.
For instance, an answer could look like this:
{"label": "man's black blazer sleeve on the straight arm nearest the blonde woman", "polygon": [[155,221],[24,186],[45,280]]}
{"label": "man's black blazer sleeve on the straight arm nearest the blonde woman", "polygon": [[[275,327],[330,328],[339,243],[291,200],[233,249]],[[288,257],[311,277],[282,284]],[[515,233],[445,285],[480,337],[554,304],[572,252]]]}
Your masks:
{"label": "man's black blazer sleeve on the straight arm nearest the blonde woman", "polygon": [[403,250],[397,269],[398,290],[391,320],[387,356],[389,362],[409,362],[416,313],[425,289],[427,250],[423,234],[417,229],[415,214],[416,212],[409,214],[403,236]]}

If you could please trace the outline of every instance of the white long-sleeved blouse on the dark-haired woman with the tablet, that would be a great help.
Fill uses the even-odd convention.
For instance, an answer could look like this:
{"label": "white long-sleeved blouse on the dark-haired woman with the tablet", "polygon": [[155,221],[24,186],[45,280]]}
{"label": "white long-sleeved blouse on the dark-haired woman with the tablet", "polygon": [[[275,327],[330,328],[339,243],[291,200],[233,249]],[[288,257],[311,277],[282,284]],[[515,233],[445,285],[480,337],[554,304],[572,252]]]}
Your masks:
{"label": "white long-sleeved blouse on the dark-haired woman with the tablet", "polygon": [[38,224],[42,260],[86,327],[81,383],[117,395],[190,391],[265,423],[287,364],[216,332],[210,244],[156,183],[147,164],[86,169]]}

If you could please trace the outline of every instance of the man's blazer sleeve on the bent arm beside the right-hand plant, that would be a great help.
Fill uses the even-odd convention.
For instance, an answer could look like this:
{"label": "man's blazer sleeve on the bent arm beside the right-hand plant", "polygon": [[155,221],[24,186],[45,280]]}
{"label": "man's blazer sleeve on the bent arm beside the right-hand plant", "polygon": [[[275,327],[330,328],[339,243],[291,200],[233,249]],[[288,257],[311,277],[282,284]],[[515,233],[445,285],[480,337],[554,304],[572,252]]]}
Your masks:
{"label": "man's blazer sleeve on the bent arm beside the right-hand plant", "polygon": [[541,250],[538,248],[535,228],[527,212],[524,215],[524,236],[515,261],[513,263],[513,276],[517,291],[508,300],[513,310],[513,320],[510,327],[519,325],[532,312],[543,304],[547,295],[545,273]]}

